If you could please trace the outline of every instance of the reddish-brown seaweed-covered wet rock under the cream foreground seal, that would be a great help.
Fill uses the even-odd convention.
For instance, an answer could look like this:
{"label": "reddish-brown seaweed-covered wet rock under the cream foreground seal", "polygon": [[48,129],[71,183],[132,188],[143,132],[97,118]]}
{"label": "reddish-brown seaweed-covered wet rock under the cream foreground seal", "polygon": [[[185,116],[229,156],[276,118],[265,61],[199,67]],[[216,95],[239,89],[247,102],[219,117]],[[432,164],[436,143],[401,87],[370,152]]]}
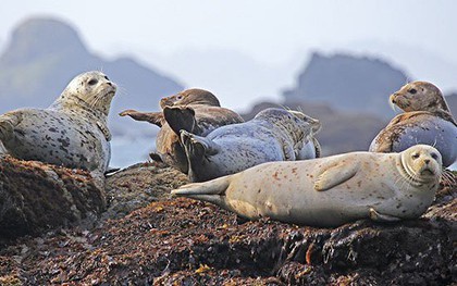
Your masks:
{"label": "reddish-brown seaweed-covered wet rock under the cream foreground seal", "polygon": [[0,251],[0,283],[450,285],[457,279],[455,185],[444,186],[419,220],[313,228],[267,219],[243,222],[209,203],[169,198],[172,187],[187,182],[178,175],[156,163],[114,174],[107,182],[110,215],[92,228],[17,239]]}

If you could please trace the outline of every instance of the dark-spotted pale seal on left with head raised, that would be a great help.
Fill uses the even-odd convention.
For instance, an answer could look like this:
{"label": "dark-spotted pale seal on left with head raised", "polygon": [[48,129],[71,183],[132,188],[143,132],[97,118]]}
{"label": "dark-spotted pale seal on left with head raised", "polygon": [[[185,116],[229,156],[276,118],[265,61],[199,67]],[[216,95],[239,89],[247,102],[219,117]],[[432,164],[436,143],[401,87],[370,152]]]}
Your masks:
{"label": "dark-spotted pale seal on left with head raised", "polygon": [[79,74],[49,108],[1,115],[0,140],[17,159],[103,174],[111,157],[107,117],[115,91],[101,72]]}

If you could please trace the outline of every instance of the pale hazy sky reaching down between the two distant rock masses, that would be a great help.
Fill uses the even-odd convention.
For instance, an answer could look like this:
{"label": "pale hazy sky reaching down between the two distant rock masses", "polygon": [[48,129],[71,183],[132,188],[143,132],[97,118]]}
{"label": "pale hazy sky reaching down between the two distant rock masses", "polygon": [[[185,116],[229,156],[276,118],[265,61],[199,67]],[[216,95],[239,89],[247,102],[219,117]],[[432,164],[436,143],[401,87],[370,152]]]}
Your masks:
{"label": "pale hazy sky reaching down between the two distant rock masses", "polygon": [[[313,50],[382,54],[413,77],[457,89],[456,11],[457,1],[444,0],[15,0],[0,10],[0,47],[24,18],[55,16],[98,54],[133,55],[222,95],[228,107],[239,103],[230,92],[277,98]],[[232,70],[214,75],[221,58]],[[237,69],[272,72],[250,79]]]}

